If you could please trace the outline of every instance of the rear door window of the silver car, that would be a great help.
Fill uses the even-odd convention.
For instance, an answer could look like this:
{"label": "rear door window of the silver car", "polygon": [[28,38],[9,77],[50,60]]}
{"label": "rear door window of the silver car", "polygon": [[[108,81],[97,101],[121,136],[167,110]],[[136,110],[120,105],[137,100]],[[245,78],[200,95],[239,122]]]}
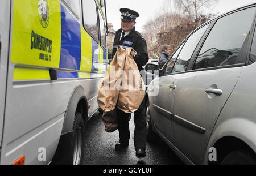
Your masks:
{"label": "rear door window of the silver car", "polygon": [[244,63],[238,54],[250,32],[255,7],[238,11],[217,20],[205,40],[193,69]]}

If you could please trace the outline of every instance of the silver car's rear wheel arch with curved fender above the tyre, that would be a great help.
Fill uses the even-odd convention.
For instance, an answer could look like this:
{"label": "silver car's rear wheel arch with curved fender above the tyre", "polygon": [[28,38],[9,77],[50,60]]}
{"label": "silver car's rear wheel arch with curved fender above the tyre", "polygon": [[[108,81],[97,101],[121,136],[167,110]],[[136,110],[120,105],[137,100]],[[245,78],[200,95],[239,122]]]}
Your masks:
{"label": "silver car's rear wheel arch with curved fender above the tyre", "polygon": [[[217,122],[208,146],[205,150],[204,164],[220,164],[230,152],[238,149],[256,151],[255,130],[256,124],[245,118],[230,118],[226,121]],[[214,147],[217,152],[217,161],[208,160],[208,149]]]}

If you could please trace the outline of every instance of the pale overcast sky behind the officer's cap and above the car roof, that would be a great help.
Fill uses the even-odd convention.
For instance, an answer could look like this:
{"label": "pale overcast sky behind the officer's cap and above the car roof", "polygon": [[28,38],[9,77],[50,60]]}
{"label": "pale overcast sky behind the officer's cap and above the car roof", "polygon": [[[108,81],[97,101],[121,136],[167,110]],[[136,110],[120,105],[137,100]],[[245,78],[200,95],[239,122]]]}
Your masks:
{"label": "pale overcast sky behind the officer's cap and above the car roof", "polygon": [[[161,13],[163,2],[164,0],[106,0],[108,23],[112,23],[114,30],[117,31],[120,28],[121,13],[119,9],[122,7],[131,8],[140,14],[140,17],[136,20],[137,24],[135,27],[137,31],[142,32],[143,25]],[[218,11],[222,14],[234,8],[255,2],[255,0],[219,0],[216,8],[210,12]]]}

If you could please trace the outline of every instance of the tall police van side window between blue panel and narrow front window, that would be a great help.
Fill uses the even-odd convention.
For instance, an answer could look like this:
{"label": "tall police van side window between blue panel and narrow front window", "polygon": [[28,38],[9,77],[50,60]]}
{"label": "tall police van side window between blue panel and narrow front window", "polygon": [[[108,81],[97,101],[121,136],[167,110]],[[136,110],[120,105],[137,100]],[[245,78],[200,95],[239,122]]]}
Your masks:
{"label": "tall police van side window between blue panel and narrow front window", "polygon": [[82,1],[82,7],[84,28],[89,32],[94,40],[99,42],[96,3],[94,0],[84,0]]}

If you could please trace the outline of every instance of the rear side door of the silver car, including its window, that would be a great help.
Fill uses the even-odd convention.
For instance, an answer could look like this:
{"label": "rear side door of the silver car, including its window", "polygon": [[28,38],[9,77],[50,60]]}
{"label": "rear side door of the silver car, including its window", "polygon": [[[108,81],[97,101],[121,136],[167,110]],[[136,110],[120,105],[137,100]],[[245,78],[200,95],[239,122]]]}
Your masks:
{"label": "rear side door of the silver car, including its window", "polygon": [[174,145],[195,164],[203,161],[210,132],[245,65],[255,7],[216,20],[195,63],[176,86]]}

